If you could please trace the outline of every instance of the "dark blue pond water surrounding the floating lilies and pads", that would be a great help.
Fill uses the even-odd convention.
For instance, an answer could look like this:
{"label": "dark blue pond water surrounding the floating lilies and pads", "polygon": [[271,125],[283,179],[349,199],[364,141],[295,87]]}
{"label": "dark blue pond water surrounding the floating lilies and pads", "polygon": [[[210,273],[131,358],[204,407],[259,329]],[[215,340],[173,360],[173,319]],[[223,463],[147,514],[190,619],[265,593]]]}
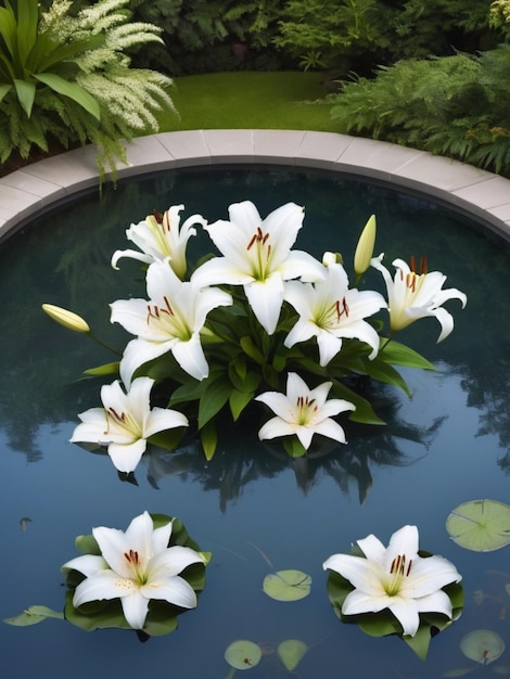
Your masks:
{"label": "dark blue pond water surrounding the floating lilies and pads", "polygon": [[[401,333],[437,371],[405,371],[410,399],[396,389],[375,392],[385,427],[347,423],[347,446],[291,461],[259,443],[256,423],[248,423],[222,432],[209,463],[190,439],[176,451],[145,456],[138,485],[123,483],[107,457],[68,443],[77,413],[100,405],[100,384],[81,381],[81,371],[112,357],[50,321],[40,306],[73,309],[122,348],[127,335],[110,324],[107,305],[145,296],[137,262],[122,260],[120,271],[110,267],[112,253],[128,247],[126,228],[179,203],[186,216],[226,219],[228,205],[242,200],[253,201],[263,216],[288,201],[304,205],[298,247],[318,258],[326,249],[342,252],[348,261],[375,214],[375,249],[385,252],[387,266],[395,257],[426,255],[430,270],[448,276],[445,287],[467,293],[468,306],[447,303],[455,330],[438,345],[435,319]],[[510,547],[471,552],[445,530],[448,513],[461,502],[510,501],[507,243],[462,215],[374,184],[285,168],[218,168],[119,183],[107,187],[101,202],[92,193],[62,206],[2,245],[0,271],[0,617],[34,604],[62,610],[60,567],[77,555],[75,537],[98,525],[125,529],[144,510],[179,516],[214,554],[197,608],[179,617],[177,631],[146,643],[135,632],[88,633],[58,619],[2,625],[0,657],[10,679],[226,679],[232,675],[225,650],[240,638],[266,652],[251,669],[253,679],[510,671],[510,650],[483,668],[459,649],[460,639],[479,628],[510,639]],[[381,286],[377,272],[367,286]],[[420,547],[449,559],[463,576],[463,614],[432,640],[425,662],[398,638],[374,639],[342,624],[321,567],[356,539],[373,533],[386,543],[408,523],[418,526]],[[308,598],[281,603],[263,592],[264,577],[282,568],[310,574]],[[308,646],[294,674],[276,653],[286,639]]]}

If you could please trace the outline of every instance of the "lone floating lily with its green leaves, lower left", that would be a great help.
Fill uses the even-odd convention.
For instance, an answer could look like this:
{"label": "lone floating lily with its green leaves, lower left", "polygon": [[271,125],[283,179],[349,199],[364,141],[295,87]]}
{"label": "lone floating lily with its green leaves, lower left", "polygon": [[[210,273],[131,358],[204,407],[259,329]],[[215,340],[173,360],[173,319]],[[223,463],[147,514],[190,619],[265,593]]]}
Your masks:
{"label": "lone floating lily with its green leaves, lower left", "polygon": [[67,561],[65,619],[88,631],[104,627],[160,636],[197,603],[211,553],[197,551],[177,518],[143,512],[126,531],[97,527],[76,539]]}

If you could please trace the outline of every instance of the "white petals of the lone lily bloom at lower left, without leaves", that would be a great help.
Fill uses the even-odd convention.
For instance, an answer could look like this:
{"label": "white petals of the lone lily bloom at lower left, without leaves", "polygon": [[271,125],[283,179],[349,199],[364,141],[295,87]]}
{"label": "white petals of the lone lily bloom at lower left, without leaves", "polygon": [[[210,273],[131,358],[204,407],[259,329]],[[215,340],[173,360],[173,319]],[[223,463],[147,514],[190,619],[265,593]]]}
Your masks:
{"label": "white petals of the lone lily bloom at lower left, without leaves", "polygon": [[148,512],[136,516],[126,531],[93,528],[101,555],[85,554],[62,566],[86,576],[75,590],[73,605],[120,599],[124,617],[133,629],[143,628],[151,599],[194,608],[196,594],[179,573],[206,561],[189,547],[168,547],[171,528],[171,522],[154,528]]}

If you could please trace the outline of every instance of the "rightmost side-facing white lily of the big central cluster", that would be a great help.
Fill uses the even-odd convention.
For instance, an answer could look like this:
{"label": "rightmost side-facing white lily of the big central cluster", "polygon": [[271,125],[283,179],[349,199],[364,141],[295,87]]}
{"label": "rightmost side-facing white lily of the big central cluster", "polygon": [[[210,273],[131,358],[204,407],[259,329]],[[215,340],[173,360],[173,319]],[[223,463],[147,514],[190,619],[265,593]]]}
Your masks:
{"label": "rightmost side-facing white lily of the big central cluster", "polygon": [[426,273],[426,262],[422,259],[421,273],[416,272],[413,259],[411,267],[403,259],[395,259],[395,278],[392,280],[390,271],[382,264],[384,254],[372,259],[372,267],[381,271],[387,290],[390,309],[390,328],[392,333],[407,328],[420,318],[434,316],[441,323],[441,334],[437,342],[442,342],[454,330],[451,315],[442,308],[447,299],[460,299],[464,308],[468,298],[456,287],[442,290],[446,276],[439,271]]}

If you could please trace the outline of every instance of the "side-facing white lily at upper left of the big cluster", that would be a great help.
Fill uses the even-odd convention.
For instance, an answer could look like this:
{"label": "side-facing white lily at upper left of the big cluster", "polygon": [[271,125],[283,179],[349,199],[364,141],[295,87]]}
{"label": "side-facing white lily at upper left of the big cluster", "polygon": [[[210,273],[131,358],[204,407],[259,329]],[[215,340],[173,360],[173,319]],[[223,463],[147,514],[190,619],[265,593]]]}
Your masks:
{"label": "side-facing white lily at upper left of the big cluster", "polygon": [[126,236],[135,243],[141,252],[136,249],[117,249],[112,257],[112,267],[118,269],[117,262],[122,257],[130,257],[145,264],[170,258],[170,266],[176,274],[183,280],[187,269],[186,248],[192,235],[196,235],[194,225],[205,227],[206,220],[201,215],[192,215],[180,226],[179,213],[183,205],[173,205],[163,215],[154,213],[143,221],[132,223],[126,231]]}

